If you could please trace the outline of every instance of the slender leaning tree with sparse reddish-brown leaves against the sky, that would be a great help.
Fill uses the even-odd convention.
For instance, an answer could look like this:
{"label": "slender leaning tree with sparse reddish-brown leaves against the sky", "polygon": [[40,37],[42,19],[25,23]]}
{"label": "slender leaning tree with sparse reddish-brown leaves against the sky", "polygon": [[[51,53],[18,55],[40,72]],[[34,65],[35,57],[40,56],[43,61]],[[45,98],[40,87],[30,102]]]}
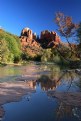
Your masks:
{"label": "slender leaning tree with sparse reddish-brown leaves against the sky", "polygon": [[58,12],[56,13],[56,17],[55,17],[55,22],[58,26],[58,31],[60,32],[60,34],[66,38],[70,50],[71,50],[71,55],[73,53],[73,48],[71,43],[69,42],[69,38],[72,37],[73,35],[75,35],[76,30],[78,28],[78,24],[74,24],[72,22],[72,17],[70,16],[65,16],[63,13]]}

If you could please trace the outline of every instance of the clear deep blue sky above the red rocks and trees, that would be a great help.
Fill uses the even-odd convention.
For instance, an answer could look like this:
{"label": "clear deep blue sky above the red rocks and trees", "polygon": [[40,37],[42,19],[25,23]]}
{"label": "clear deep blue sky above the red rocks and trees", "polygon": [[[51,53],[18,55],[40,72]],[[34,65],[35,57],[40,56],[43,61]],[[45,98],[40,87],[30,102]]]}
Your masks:
{"label": "clear deep blue sky above the red rocks and trees", "polygon": [[81,0],[0,0],[0,26],[18,36],[25,27],[37,35],[43,30],[57,32],[54,18],[59,11],[78,23]]}

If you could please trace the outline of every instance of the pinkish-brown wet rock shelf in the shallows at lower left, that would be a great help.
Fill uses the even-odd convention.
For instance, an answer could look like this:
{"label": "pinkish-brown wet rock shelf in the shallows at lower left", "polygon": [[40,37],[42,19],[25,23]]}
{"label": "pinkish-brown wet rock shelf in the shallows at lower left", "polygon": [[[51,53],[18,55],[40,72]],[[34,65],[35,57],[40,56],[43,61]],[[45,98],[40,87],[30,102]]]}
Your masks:
{"label": "pinkish-brown wet rock shelf in the shallows at lower left", "polygon": [[4,82],[0,83],[0,117],[4,115],[1,107],[4,103],[19,101],[24,94],[35,92],[35,82]]}

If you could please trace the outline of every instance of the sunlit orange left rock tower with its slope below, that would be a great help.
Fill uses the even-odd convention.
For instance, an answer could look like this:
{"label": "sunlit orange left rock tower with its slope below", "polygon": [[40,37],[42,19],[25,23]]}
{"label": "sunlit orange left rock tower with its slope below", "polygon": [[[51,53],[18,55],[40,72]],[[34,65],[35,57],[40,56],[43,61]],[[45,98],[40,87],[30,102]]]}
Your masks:
{"label": "sunlit orange left rock tower with its slope below", "polygon": [[41,47],[40,43],[37,42],[36,33],[32,33],[29,28],[24,28],[20,36],[22,51],[29,55],[29,58],[34,58],[40,55]]}

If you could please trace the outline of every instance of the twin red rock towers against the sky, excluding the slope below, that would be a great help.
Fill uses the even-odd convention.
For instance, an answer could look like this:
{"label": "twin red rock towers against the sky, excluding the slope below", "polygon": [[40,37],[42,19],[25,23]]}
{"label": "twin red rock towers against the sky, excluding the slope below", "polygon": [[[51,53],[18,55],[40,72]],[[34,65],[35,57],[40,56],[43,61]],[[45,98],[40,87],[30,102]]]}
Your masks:
{"label": "twin red rock towers against the sky, excluding the slope below", "polygon": [[37,39],[36,33],[32,33],[29,28],[24,28],[20,36],[22,50],[25,50],[28,46],[34,48],[51,48],[56,47],[61,43],[60,37],[54,31],[42,31],[40,38]]}

